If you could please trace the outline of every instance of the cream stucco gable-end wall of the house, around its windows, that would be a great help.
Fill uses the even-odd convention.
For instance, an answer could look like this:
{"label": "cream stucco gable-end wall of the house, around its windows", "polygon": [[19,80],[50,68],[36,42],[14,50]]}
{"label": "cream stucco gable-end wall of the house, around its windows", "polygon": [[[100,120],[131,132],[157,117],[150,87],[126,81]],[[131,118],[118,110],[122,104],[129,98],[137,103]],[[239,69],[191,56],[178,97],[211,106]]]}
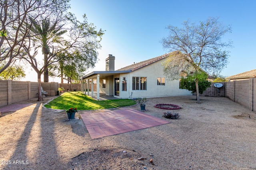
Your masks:
{"label": "cream stucco gable-end wall of the house, around its windows", "polygon": [[[169,81],[164,76],[162,60],[144,66],[129,74],[120,74],[120,98],[139,98],[139,97],[163,97],[192,95],[188,90],[179,89],[179,81]],[[132,77],[147,77],[147,90],[132,90]],[[118,76],[116,76],[118,77]],[[127,77],[127,92],[122,91],[122,77]],[[157,78],[165,78],[165,86],[157,85]]]}

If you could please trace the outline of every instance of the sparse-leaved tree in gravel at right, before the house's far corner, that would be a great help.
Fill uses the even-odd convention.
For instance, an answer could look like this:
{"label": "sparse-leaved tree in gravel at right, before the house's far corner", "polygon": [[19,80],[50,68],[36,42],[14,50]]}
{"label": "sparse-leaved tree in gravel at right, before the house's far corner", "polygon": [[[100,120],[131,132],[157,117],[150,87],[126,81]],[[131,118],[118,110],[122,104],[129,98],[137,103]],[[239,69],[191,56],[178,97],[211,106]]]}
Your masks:
{"label": "sparse-leaved tree in gravel at right, before the house's far corner", "polygon": [[[177,79],[172,72],[184,66],[184,69],[194,69],[197,73],[200,68],[203,70],[220,71],[228,63],[228,53],[225,47],[231,47],[232,42],[222,42],[222,37],[231,32],[229,25],[224,25],[218,21],[219,18],[208,18],[200,21],[199,24],[185,21],[182,28],[169,25],[167,29],[170,34],[163,38],[161,43],[164,48],[170,51],[180,51],[182,55],[177,55],[178,59],[172,59],[165,63],[164,72],[170,79]],[[182,68],[183,69],[183,68]],[[179,75],[179,74],[178,74]],[[196,96],[200,103],[198,78],[196,78]]]}

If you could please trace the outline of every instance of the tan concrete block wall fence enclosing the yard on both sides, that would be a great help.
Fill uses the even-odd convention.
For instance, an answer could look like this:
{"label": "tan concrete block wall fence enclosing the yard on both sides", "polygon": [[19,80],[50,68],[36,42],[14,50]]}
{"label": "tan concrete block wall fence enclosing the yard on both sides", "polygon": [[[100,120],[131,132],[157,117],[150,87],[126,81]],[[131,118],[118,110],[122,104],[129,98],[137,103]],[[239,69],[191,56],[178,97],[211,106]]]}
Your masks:
{"label": "tan concrete block wall fence enclosing the yard on both sides", "polygon": [[[220,94],[214,87],[214,83],[212,83],[211,87],[207,88],[201,96],[226,97],[252,111],[256,111],[256,78],[220,83],[223,84],[223,87],[220,88]],[[81,84],[42,82],[43,90],[48,92],[46,96],[57,95],[57,90],[60,87],[64,87],[64,91],[68,89],[70,91],[81,91]],[[0,80],[0,107],[36,98],[38,93],[37,88],[37,82]]]}

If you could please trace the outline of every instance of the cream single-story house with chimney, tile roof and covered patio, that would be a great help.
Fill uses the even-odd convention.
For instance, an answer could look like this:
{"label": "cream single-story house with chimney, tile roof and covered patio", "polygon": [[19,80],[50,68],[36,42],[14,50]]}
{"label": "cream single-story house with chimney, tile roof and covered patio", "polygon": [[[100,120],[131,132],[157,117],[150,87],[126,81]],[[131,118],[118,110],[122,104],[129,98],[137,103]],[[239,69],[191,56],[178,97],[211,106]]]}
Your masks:
{"label": "cream single-story house with chimney, tile roof and covered patio", "polygon": [[[115,57],[108,55],[106,71],[93,71],[82,77],[82,92],[89,95],[86,89],[91,88],[94,91],[96,87],[98,100],[100,93],[116,98],[192,95],[188,90],[179,89],[178,80],[168,81],[164,76],[162,62],[173,53],[177,51],[134,63],[119,70],[114,70]],[[93,93],[91,94],[93,96]]]}

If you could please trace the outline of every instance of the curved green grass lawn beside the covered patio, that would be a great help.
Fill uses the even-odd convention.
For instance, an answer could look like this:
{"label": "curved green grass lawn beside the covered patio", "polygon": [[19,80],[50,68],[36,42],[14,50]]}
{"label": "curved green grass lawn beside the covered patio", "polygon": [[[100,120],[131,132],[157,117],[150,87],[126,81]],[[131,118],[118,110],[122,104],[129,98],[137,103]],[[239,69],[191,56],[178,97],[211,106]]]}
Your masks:
{"label": "curved green grass lawn beside the covered patio", "polygon": [[97,101],[82,92],[65,92],[44,106],[51,109],[66,110],[70,107],[76,107],[78,110],[97,110],[132,106],[134,104],[136,104],[136,101],[130,99]]}

